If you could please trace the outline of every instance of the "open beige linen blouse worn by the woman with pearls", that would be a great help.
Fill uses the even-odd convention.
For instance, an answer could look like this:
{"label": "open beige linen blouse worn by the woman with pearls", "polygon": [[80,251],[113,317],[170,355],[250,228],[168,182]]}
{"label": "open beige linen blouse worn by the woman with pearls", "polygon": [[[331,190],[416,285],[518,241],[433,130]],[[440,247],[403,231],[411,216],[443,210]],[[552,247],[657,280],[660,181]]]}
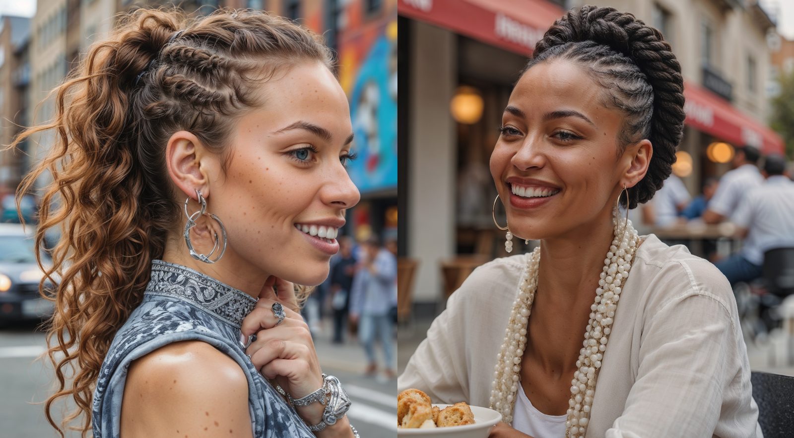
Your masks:
{"label": "open beige linen blouse worn by the woman with pearls", "polygon": [[[526,262],[521,254],[477,268],[430,326],[398,389],[488,406]],[[684,246],[653,235],[640,245],[602,363],[587,438],[762,436],[730,285]]]}

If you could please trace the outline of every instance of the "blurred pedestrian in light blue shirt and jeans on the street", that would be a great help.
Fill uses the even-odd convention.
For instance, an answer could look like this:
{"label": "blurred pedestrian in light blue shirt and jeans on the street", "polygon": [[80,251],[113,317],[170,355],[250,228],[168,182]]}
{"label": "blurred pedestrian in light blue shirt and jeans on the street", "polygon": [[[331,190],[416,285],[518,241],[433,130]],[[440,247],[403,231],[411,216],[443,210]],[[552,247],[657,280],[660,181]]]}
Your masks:
{"label": "blurred pedestrian in light blue shirt and jeans on the street", "polygon": [[376,236],[364,243],[364,260],[353,279],[353,298],[350,302],[350,320],[358,324],[358,336],[369,361],[365,373],[376,375],[378,363],[375,341],[380,338],[384,349],[384,375],[394,378],[391,369],[393,340],[391,337],[391,293],[397,278],[397,259],[387,249],[381,248]]}

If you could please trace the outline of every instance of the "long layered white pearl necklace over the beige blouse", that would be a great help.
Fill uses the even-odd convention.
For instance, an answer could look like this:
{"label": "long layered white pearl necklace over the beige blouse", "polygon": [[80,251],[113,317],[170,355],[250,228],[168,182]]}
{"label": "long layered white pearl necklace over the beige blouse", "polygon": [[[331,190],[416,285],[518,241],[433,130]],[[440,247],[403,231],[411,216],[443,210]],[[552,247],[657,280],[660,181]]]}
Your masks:
{"label": "long layered white pearl necklace over the beige blouse", "polygon": [[[584,332],[583,347],[576,361],[577,370],[571,381],[569,400],[567,438],[584,438],[587,432],[590,409],[595,394],[595,381],[601,368],[607,339],[615,318],[623,282],[629,276],[634,253],[637,251],[639,236],[631,221],[626,221],[626,229],[615,225],[614,239],[604,259],[603,272],[599,287],[595,290],[595,302],[590,306],[590,321]],[[494,368],[494,382],[491,385],[491,409],[502,414],[507,424],[513,422],[516,391],[521,387],[521,361],[526,347],[526,327],[529,322],[538,289],[538,264],[540,248],[530,254],[526,273],[518,286],[510,321],[505,331],[502,349],[497,356]]]}

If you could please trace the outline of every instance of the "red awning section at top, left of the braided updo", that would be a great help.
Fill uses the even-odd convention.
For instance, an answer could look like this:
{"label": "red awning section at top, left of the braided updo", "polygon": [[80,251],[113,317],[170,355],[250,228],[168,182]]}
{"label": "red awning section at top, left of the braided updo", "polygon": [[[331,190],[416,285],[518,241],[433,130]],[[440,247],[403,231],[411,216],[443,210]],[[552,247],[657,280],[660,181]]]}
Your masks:
{"label": "red awning section at top, left of the braided updo", "polygon": [[565,11],[545,0],[399,0],[398,13],[530,55]]}

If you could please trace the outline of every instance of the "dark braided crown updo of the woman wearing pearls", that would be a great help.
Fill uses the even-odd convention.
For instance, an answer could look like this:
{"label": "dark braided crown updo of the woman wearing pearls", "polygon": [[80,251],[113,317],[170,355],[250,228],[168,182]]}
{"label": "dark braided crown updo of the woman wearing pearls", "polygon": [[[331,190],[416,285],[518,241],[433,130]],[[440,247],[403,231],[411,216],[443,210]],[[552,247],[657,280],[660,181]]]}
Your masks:
{"label": "dark braided crown updo of the woman wearing pearls", "polygon": [[619,152],[643,139],[653,144],[648,172],[629,190],[628,207],[649,201],[670,176],[684,132],[684,79],[670,44],[631,13],[582,6],[554,22],[524,71],[550,60],[578,63],[603,86],[605,104],[622,110]]}

